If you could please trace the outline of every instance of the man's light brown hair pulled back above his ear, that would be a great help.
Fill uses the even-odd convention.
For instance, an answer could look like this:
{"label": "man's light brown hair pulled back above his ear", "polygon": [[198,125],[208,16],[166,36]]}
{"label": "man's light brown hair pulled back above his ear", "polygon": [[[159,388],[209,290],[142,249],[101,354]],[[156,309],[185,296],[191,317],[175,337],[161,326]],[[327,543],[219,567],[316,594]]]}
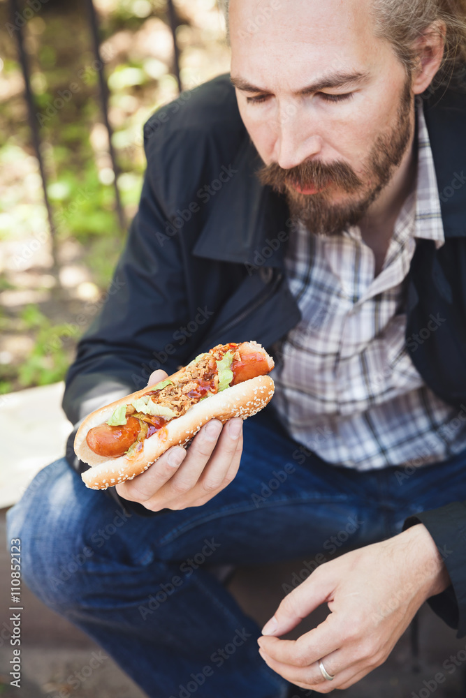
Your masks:
{"label": "man's light brown hair pulled back above his ear", "polygon": [[[230,0],[218,0],[226,16]],[[386,38],[407,71],[416,66],[416,39],[435,22],[446,25],[445,52],[435,87],[466,73],[466,0],[372,0],[377,36]],[[438,30],[439,31],[439,30]]]}

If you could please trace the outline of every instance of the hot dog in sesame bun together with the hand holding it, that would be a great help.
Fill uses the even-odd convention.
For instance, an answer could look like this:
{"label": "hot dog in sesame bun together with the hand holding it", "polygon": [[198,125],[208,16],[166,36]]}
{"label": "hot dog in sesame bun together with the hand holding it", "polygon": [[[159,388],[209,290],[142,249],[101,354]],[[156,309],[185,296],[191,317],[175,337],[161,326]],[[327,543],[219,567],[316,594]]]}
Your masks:
{"label": "hot dog in sesame bun together with the hand holding it", "polygon": [[[241,422],[272,398],[274,383],[267,374],[273,366],[265,349],[250,341],[219,344],[168,377],[156,371],[147,387],[82,422],[75,453],[91,466],[82,480],[92,489],[106,489],[136,478],[138,484],[126,488],[126,495],[119,491],[128,499],[142,498],[148,507],[166,508],[173,498],[174,508],[205,503],[235,477]],[[188,456],[180,448],[187,443]],[[182,476],[174,478],[169,463],[177,455],[186,462]],[[180,465],[181,460],[175,468]],[[152,475],[141,480],[147,470]],[[139,489],[144,482],[150,482],[148,490]]]}

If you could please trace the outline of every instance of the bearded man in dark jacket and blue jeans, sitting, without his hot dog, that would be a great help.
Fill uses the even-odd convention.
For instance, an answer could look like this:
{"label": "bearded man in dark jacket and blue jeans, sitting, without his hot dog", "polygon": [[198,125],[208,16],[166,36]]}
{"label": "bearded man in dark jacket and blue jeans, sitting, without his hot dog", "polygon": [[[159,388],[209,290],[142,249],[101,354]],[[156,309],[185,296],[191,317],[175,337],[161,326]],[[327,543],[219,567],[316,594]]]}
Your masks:
{"label": "bearded man in dark jacket and blue jeans, sitting, without his hot dog", "polygon": [[[154,698],[347,688],[425,600],[466,633],[465,4],[228,10],[231,75],[145,126],[140,208],[64,409],[78,425],[252,339],[275,397],[111,496],[70,447],[8,514],[27,584]],[[316,569],[260,637],[225,570],[298,556]]]}

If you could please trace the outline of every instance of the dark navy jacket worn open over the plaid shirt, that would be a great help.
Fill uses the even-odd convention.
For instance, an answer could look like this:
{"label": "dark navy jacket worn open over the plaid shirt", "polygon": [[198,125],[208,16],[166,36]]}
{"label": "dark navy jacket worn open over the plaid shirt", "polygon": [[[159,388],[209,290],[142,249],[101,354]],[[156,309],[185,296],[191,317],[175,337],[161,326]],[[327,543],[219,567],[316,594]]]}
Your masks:
{"label": "dark navy jacket worn open over the plaid shirt", "polygon": [[[466,405],[466,94],[449,90],[424,107],[446,243],[438,251],[434,242],[417,243],[407,281],[407,347],[430,388],[460,410]],[[254,174],[259,157],[228,76],[162,107],[144,135],[138,214],[106,302],[66,377],[63,407],[73,424],[110,397],[145,386],[155,369],[172,373],[217,343],[255,339],[279,359],[280,341],[300,320],[284,275],[289,211]],[[423,341],[431,315],[443,321]],[[68,460],[84,468],[72,439]],[[445,525],[438,512],[429,519],[434,537],[435,526]],[[460,551],[446,564],[466,632],[466,598],[458,591],[464,584],[466,593],[466,556],[461,581],[453,570],[457,558]]]}

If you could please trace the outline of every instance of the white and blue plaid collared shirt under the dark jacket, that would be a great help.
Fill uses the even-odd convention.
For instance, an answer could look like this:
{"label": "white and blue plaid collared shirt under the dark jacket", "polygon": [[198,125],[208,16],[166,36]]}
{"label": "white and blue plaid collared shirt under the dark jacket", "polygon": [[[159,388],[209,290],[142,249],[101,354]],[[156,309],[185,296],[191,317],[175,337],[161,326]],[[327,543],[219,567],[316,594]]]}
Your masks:
{"label": "white and blue plaid collared shirt under the dark jacket", "polygon": [[[384,266],[354,226],[312,235],[286,253],[303,315],[286,336],[272,405],[290,435],[321,458],[358,470],[439,462],[466,448],[466,424],[423,382],[407,352],[405,291],[416,238],[444,244],[435,167],[418,109],[417,182],[395,223]],[[432,315],[421,336],[442,324]],[[410,346],[412,348],[412,346]]]}

